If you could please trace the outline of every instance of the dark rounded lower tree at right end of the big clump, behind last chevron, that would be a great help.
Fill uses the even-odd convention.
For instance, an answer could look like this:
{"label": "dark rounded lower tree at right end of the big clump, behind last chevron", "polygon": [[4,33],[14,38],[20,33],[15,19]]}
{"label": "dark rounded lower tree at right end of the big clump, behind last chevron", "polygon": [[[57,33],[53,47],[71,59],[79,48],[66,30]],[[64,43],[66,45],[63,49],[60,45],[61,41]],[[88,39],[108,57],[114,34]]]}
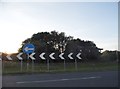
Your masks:
{"label": "dark rounded lower tree at right end of the big clump, behind last chevron", "polygon": [[95,43],[92,41],[80,40],[79,38],[69,41],[66,49],[66,52],[68,53],[73,52],[76,54],[81,52],[82,59],[86,61],[97,60],[101,55],[99,48],[96,47]]}

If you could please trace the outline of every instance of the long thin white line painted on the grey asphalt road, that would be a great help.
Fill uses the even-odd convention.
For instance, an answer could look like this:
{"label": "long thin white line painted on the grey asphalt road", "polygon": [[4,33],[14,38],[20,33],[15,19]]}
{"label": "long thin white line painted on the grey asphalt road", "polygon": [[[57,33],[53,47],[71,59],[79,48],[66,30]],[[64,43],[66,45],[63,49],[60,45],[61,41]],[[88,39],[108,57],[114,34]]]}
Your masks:
{"label": "long thin white line painted on the grey asphalt road", "polygon": [[95,78],[101,78],[100,76],[96,77],[82,77],[82,78],[70,78],[70,79],[56,79],[56,80],[41,80],[41,81],[22,81],[22,82],[16,82],[17,84],[24,84],[24,83],[44,83],[44,82],[59,82],[59,81],[68,81],[68,80],[82,80],[82,79],[95,79]]}

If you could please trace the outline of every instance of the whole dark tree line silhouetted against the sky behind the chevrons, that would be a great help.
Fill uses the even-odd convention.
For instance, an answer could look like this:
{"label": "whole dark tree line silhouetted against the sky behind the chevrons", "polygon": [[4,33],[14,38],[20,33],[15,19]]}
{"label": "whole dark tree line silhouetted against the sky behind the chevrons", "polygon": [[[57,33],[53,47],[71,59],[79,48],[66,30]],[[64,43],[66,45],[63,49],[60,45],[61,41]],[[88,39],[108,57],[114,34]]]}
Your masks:
{"label": "whole dark tree line silhouetted against the sky behind the chevrons", "polygon": [[[116,51],[105,51],[101,52],[101,48],[98,48],[93,41],[84,41],[80,38],[74,39],[72,36],[66,36],[64,32],[38,32],[33,34],[31,38],[27,38],[22,42],[22,46],[19,48],[18,52],[22,52],[25,44],[32,43],[35,46],[35,53],[39,54],[42,52],[60,54],[65,53],[64,57],[68,53],[77,54],[81,53],[81,61],[99,61],[99,60],[116,60]],[[15,55],[15,54],[14,54]],[[74,55],[73,55],[74,56]],[[66,60],[69,61],[67,57]],[[40,59],[36,56],[36,61]],[[26,57],[24,57],[26,60]],[[56,60],[57,62],[60,61]]]}

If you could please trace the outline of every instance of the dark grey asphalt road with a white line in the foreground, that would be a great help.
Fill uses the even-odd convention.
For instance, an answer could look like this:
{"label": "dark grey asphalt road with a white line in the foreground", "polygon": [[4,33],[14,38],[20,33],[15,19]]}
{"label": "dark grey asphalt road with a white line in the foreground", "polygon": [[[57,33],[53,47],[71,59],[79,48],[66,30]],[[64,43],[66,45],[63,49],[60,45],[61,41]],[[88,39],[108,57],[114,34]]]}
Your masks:
{"label": "dark grey asphalt road with a white line in the foreground", "polygon": [[118,72],[3,75],[3,87],[118,87]]}

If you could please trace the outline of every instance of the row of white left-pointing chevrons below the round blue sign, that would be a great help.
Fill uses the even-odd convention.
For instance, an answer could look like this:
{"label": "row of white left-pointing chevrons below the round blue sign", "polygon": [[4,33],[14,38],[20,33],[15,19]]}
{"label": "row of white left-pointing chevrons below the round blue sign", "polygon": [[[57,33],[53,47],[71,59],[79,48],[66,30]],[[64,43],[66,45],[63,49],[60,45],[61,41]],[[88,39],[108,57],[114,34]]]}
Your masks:
{"label": "row of white left-pointing chevrons below the round blue sign", "polygon": [[[19,60],[23,60],[23,58],[22,58],[22,55],[23,55],[24,53],[18,53],[17,55],[16,55],[16,58],[17,59],[19,59]],[[69,58],[69,59],[74,59],[74,57],[73,57],[73,54],[74,53],[69,53],[69,54],[67,54],[67,58]],[[30,55],[27,55],[28,56],[28,58],[30,58],[30,59],[32,59],[32,60],[35,60],[36,58],[34,57],[34,55],[35,55],[35,53],[31,53]],[[46,60],[47,58],[46,58],[46,53],[45,52],[43,52],[43,53],[40,53],[39,54],[39,58],[40,59],[42,59],[42,60]],[[58,57],[60,58],[60,59],[62,59],[62,60],[65,60],[65,57],[64,57],[64,55],[65,55],[65,53],[60,53],[59,55],[58,55]],[[76,54],[75,55],[76,56],[76,58],[78,58],[78,59],[82,59],[81,58],[81,53],[78,53],[78,54]],[[48,55],[48,57],[50,58],[50,59],[52,59],[52,60],[55,60],[56,58],[56,56],[55,56],[55,53],[53,52],[53,53],[50,53],[49,55]],[[57,58],[58,58],[57,57]],[[11,54],[8,54],[7,56],[6,56],[6,58],[8,59],[8,60],[13,60],[12,59],[12,57],[11,57]]]}

